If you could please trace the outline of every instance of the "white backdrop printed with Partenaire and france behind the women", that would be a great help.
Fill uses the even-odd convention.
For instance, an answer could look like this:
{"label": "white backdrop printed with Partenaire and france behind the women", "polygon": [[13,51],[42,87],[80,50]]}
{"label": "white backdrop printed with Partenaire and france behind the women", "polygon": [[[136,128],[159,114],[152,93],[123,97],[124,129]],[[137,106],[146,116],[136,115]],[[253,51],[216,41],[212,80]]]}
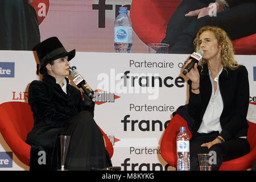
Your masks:
{"label": "white backdrop printed with Partenaire and france behind the women", "polygon": [[[34,53],[0,51],[0,55],[0,104],[27,102],[30,82],[39,79]],[[177,107],[188,100],[187,80],[180,73],[187,57],[147,53],[76,53],[70,67],[76,68],[96,90],[94,119],[113,142],[113,166],[121,166],[122,170],[164,170],[168,167],[160,155],[160,141],[164,124],[170,121]],[[249,72],[250,102],[256,102],[256,56],[237,55],[236,60]],[[14,70],[11,68],[14,77],[4,77],[4,63],[14,63]],[[255,122],[255,108],[251,108],[251,122]],[[0,152],[9,151],[11,149],[0,135]],[[0,170],[29,169],[14,154],[12,162],[12,168],[3,168],[0,164]]]}

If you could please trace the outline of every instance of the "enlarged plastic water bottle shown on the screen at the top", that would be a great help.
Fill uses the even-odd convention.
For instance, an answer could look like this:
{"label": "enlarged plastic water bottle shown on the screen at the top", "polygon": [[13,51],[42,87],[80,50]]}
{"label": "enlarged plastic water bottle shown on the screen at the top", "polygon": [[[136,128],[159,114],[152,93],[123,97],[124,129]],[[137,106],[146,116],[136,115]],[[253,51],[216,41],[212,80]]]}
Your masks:
{"label": "enlarged plastic water bottle shown on the screen at the top", "polygon": [[119,7],[119,15],[115,18],[114,23],[114,46],[115,52],[131,53],[133,46],[133,28],[131,19],[127,15],[127,7]]}

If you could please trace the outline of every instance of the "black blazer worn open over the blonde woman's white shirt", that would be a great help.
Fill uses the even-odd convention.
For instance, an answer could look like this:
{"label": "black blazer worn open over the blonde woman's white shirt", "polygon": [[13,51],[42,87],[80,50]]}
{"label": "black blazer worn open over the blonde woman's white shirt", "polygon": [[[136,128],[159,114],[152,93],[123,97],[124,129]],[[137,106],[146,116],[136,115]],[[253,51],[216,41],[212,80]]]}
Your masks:
{"label": "black blazer worn open over the blonde woman's white shirt", "polygon": [[[200,73],[200,94],[191,92],[191,81],[189,80],[189,103],[188,112],[195,123],[192,135],[199,129],[205,110],[207,109],[210,96],[212,94],[212,84],[210,82],[208,66],[204,65],[203,71],[199,67]],[[220,93],[224,108],[220,116],[221,133],[220,136],[225,141],[245,137],[247,135],[248,124],[246,120],[249,106],[249,80],[247,69],[241,65],[236,70],[224,68],[219,76]]]}

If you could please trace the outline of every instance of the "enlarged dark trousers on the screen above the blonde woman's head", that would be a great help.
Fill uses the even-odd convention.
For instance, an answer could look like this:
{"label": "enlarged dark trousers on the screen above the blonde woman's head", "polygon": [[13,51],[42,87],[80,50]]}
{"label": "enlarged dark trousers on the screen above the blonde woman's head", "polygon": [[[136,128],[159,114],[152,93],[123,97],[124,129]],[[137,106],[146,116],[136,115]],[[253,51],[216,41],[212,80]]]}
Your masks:
{"label": "enlarged dark trousers on the screen above the blonde woman's head", "polygon": [[256,3],[242,3],[220,11],[216,16],[185,17],[189,11],[208,7],[215,0],[183,0],[171,16],[162,43],[170,44],[169,53],[192,53],[193,40],[201,27],[210,25],[224,29],[235,40],[256,32]]}

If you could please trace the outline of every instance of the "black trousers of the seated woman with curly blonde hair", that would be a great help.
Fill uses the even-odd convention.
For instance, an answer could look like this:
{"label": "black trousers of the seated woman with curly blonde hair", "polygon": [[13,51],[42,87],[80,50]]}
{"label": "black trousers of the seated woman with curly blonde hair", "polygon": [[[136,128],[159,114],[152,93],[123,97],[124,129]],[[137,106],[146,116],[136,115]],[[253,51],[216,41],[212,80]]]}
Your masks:
{"label": "black trousers of the seated woman with curly blonde hair", "polygon": [[208,154],[210,151],[216,152],[216,164],[212,165],[212,170],[218,170],[222,164],[227,160],[240,158],[250,152],[250,144],[247,139],[233,138],[224,143],[214,144],[209,149],[201,147],[201,144],[208,143],[218,137],[219,133],[213,131],[209,134],[196,133],[189,142],[190,148],[190,168],[191,171],[199,170],[199,161],[197,154]]}

